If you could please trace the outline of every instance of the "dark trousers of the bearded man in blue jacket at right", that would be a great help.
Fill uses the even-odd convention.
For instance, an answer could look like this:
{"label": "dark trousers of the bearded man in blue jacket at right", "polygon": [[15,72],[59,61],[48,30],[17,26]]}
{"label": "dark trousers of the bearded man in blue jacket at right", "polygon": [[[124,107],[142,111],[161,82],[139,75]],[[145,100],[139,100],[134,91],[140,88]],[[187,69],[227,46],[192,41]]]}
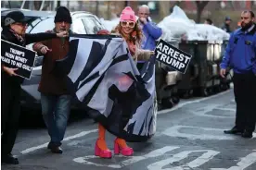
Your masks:
{"label": "dark trousers of the bearded man in blue jacket at right", "polygon": [[237,103],[236,128],[253,132],[256,123],[256,76],[252,72],[235,73],[233,82]]}

